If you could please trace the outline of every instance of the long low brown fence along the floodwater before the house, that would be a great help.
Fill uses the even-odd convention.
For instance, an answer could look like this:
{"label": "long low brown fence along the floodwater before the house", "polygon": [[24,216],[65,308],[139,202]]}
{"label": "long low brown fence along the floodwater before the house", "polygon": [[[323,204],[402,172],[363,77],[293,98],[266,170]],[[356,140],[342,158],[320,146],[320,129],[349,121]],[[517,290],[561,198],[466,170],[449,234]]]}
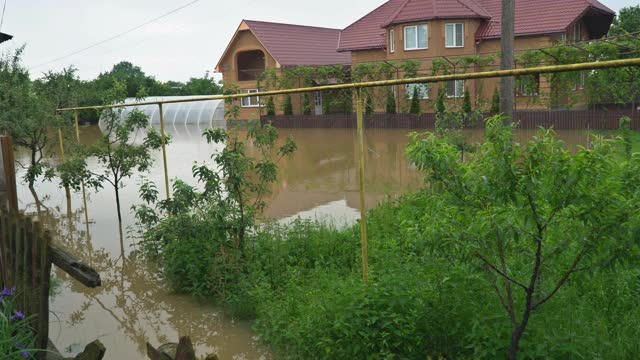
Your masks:
{"label": "long low brown fence along the floodwater before the house", "polygon": [[[521,129],[539,127],[565,129],[615,130],[620,118],[632,118],[631,127],[640,130],[640,112],[624,110],[521,110],[515,118]],[[330,115],[276,115],[262,116],[261,122],[278,128],[336,128],[355,129],[355,114]],[[433,113],[422,115],[376,113],[365,116],[365,127],[372,129],[433,129],[436,117]]]}

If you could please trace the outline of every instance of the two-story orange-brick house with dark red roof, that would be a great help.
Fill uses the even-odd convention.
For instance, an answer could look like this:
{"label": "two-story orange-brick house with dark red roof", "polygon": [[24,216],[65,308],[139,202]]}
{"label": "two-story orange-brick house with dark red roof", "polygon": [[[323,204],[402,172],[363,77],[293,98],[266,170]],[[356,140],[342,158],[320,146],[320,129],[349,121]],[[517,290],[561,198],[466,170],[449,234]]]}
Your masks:
{"label": "two-story orange-brick house with dark red roof", "polygon": [[[263,27],[255,37],[277,38],[279,45],[270,45],[272,51],[286,50],[289,66],[313,63],[356,66],[376,61],[418,60],[422,70],[428,72],[435,58],[499,52],[501,16],[501,0],[389,0],[341,31],[272,24]],[[545,48],[562,40],[601,38],[607,34],[614,17],[615,12],[597,0],[516,0],[515,50]],[[251,30],[251,23],[256,22],[243,22],[239,32]],[[225,82],[238,83],[245,91],[253,91],[252,83],[237,78],[241,65],[238,54],[254,48],[270,52],[265,50],[264,42],[254,41],[251,48],[239,37],[251,35],[236,33],[218,64],[218,71],[223,73]],[[267,56],[260,64],[276,68],[284,65],[274,59]],[[538,78],[537,82],[539,87],[548,86],[544,79]],[[462,97],[467,89],[474,97],[490,99],[498,83],[498,79],[486,79],[416,86],[425,101],[435,97],[438,86],[445,87],[448,98]],[[521,108],[529,103],[526,97],[536,96],[531,89],[514,91]],[[399,96],[412,93],[412,86],[396,89]]]}

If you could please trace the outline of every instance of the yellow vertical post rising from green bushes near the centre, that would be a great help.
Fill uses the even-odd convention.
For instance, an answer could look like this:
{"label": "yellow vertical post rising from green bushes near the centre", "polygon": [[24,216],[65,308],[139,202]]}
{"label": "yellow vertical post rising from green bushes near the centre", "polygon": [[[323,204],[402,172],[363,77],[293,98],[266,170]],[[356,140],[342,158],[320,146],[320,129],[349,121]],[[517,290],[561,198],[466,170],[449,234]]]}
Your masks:
{"label": "yellow vertical post rising from green bushes near the centre", "polygon": [[356,89],[356,115],[358,121],[358,174],[360,181],[360,241],[362,247],[362,280],[367,285],[369,282],[369,255],[367,244],[367,207],[364,198],[364,159],[365,159],[365,146],[364,146],[364,98],[362,97],[362,89]]}

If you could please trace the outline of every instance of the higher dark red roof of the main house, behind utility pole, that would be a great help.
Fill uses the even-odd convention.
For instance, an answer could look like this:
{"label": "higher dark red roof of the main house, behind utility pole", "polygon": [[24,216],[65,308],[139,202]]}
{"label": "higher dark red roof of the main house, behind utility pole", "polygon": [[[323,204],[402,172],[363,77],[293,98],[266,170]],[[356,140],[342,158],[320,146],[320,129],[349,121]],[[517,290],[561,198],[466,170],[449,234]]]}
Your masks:
{"label": "higher dark red roof of the main house, behind utility pole", "polygon": [[[385,48],[385,27],[429,19],[483,19],[476,38],[499,38],[501,4],[501,0],[390,0],[345,28],[338,51]],[[607,29],[615,16],[597,0],[516,0],[515,33],[526,36],[564,32],[589,12],[603,15]],[[604,35],[604,28],[598,27],[595,35]]]}

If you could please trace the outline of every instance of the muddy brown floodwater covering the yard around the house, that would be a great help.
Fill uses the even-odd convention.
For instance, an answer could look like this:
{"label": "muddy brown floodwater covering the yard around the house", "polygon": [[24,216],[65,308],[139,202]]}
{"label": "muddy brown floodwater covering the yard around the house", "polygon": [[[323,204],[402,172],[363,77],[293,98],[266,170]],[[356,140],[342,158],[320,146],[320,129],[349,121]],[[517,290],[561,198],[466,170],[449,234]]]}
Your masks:
{"label": "muddy brown floodwater covering the yard around the house", "polygon": [[[207,144],[197,126],[173,127],[168,132],[168,167],[171,179],[192,179],[194,162],[210,162],[219,150]],[[366,131],[366,201],[372,207],[387,197],[417,189],[422,176],[404,157],[409,130]],[[97,126],[82,128],[82,141],[91,143],[100,134]],[[265,217],[290,221],[295,217],[331,221],[344,226],[359,218],[357,141],[351,129],[282,129],[281,138],[292,135],[298,150],[280,164],[279,181],[268,198]],[[535,131],[516,133],[525,141]],[[482,138],[481,130],[468,132],[471,142]],[[570,147],[586,146],[582,131],[559,131]],[[249,147],[250,150],[251,147]],[[25,160],[26,154],[17,157]],[[162,156],[154,154],[149,179],[164,194]],[[95,163],[90,164],[96,167]],[[19,176],[23,172],[19,173]],[[195,184],[193,180],[189,181]],[[189,335],[199,354],[217,353],[220,359],[269,359],[270,350],[251,331],[251,324],[236,321],[216,306],[187,296],[172,294],[163,286],[158,271],[136,254],[131,206],[137,196],[138,175],[122,189],[124,242],[120,242],[112,188],[88,192],[89,224],[82,195],[73,194],[67,207],[64,190],[38,183],[36,191],[51,216],[55,241],[100,272],[103,286],[87,289],[61,271],[55,271],[56,295],[51,303],[50,336],[67,356],[81,351],[96,339],[107,348],[106,359],[145,358],[145,343],[177,342]],[[19,200],[26,211],[35,212],[34,197],[19,186]]]}

